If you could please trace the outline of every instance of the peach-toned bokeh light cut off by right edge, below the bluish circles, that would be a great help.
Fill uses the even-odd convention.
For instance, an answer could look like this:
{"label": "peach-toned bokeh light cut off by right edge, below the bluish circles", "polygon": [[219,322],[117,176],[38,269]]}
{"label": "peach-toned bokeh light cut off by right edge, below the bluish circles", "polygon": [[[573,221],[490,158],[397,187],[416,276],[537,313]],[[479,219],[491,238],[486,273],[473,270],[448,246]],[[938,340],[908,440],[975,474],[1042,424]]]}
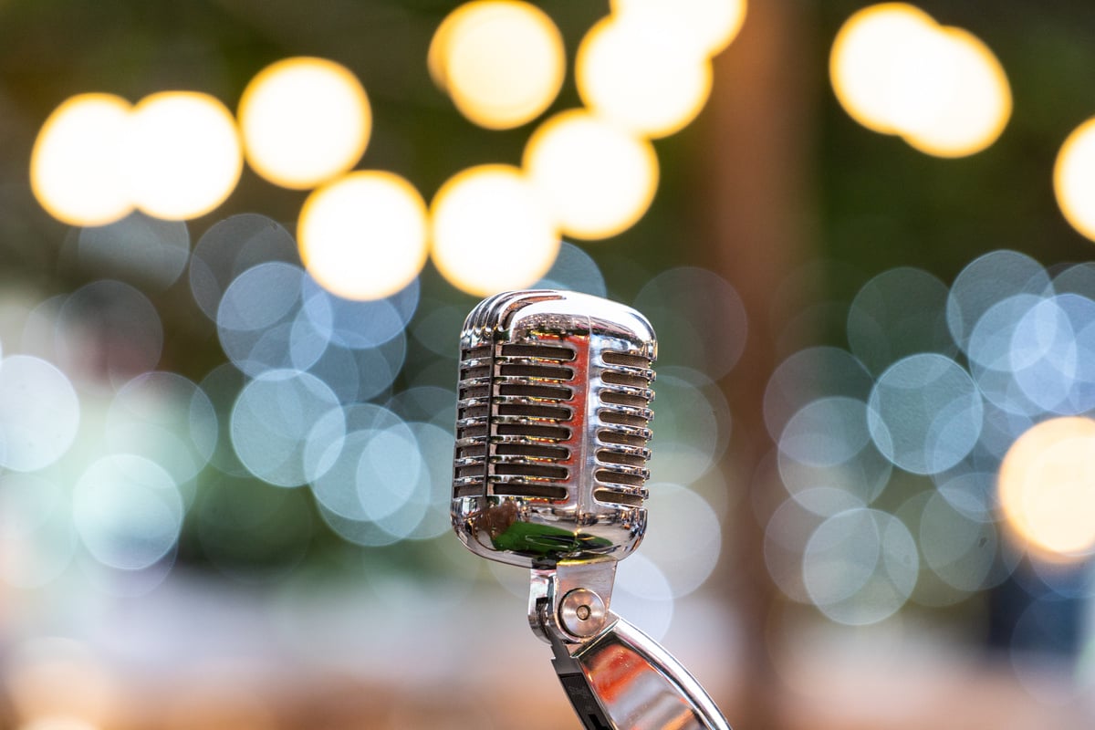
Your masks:
{"label": "peach-toned bokeh light cut off by right edge, below the bluish circles", "polygon": [[1021,436],[1000,466],[1000,506],[1021,545],[1052,559],[1095,547],[1095,420],[1052,418]]}

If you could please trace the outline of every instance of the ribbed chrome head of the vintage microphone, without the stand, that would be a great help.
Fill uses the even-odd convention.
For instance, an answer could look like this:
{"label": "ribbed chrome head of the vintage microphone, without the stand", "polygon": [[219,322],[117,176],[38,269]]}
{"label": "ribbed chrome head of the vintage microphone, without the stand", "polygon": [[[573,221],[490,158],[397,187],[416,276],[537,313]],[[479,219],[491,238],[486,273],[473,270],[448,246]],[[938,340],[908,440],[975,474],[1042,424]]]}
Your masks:
{"label": "ribbed chrome head of the vintage microphone, without the stand", "polygon": [[472,310],[460,348],[460,540],[529,568],[635,549],[649,478],[649,322],[588,294],[505,292]]}

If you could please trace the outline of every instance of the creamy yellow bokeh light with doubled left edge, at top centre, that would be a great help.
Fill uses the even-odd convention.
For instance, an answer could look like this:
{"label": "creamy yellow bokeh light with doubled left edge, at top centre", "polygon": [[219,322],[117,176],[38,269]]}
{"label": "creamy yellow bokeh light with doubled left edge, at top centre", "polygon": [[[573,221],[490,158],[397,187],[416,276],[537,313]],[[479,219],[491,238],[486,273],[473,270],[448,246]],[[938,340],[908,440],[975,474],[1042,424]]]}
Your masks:
{"label": "creamy yellow bokeh light with doubled left edge, at top centre", "polygon": [[510,129],[540,116],[566,70],[563,36],[527,2],[465,2],[438,26],[427,56],[430,76],[468,119]]}

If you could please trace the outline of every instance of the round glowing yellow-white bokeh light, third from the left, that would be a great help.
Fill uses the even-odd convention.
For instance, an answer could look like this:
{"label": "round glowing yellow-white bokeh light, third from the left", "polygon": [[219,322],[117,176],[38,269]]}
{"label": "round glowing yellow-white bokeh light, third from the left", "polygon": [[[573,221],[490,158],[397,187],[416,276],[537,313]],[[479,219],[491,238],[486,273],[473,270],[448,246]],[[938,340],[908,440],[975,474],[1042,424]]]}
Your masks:
{"label": "round glowing yellow-white bokeh light, third from the left", "polygon": [[247,163],[283,187],[315,187],[353,167],[372,131],[372,112],[349,69],[323,58],[287,58],[260,71],[240,99]]}

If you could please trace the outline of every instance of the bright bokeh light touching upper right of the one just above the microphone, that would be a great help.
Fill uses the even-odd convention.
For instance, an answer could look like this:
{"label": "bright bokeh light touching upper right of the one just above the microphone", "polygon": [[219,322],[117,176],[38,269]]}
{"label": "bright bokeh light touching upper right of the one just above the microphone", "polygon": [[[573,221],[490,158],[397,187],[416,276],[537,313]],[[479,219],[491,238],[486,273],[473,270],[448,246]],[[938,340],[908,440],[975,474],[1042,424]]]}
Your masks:
{"label": "bright bokeh light touching upper right of the one just above the microphone", "polygon": [[576,239],[627,230],[658,187],[654,147],[584,109],[544,121],[529,138],[522,167],[563,233]]}

